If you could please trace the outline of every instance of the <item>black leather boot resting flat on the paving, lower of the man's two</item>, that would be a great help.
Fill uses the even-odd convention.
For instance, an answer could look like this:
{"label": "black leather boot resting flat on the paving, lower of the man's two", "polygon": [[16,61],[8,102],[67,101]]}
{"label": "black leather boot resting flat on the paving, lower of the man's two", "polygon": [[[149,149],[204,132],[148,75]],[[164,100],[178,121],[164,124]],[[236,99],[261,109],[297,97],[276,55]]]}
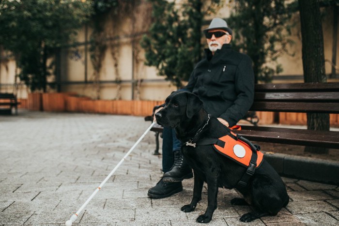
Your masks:
{"label": "black leather boot resting flat on the paving, lower of the man's two", "polygon": [[148,196],[151,198],[166,198],[183,191],[183,185],[181,182],[170,183],[165,182],[162,179],[163,178],[161,178],[153,188],[148,190]]}

